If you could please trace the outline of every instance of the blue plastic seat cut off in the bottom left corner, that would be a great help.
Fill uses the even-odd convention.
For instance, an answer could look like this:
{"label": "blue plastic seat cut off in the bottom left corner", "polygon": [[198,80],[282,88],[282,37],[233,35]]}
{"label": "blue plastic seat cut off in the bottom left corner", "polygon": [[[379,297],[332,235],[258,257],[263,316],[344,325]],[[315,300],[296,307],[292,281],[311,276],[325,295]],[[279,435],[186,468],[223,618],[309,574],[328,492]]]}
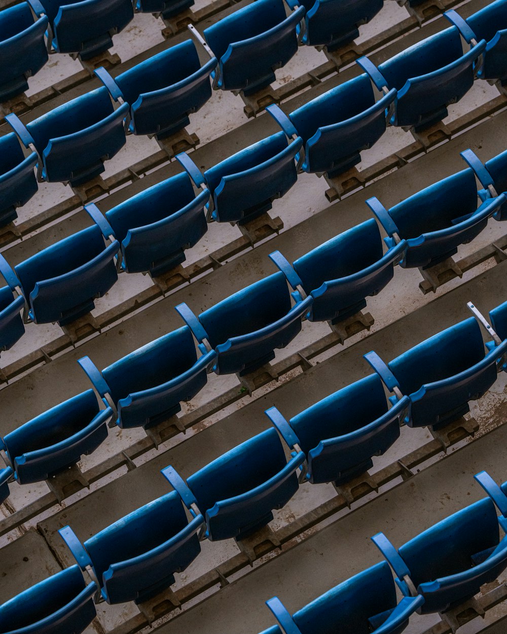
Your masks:
{"label": "blue plastic seat cut off in the bottom left corner", "polygon": [[81,634],[96,616],[92,581],[86,585],[79,566],[36,583],[0,605],[2,634]]}

